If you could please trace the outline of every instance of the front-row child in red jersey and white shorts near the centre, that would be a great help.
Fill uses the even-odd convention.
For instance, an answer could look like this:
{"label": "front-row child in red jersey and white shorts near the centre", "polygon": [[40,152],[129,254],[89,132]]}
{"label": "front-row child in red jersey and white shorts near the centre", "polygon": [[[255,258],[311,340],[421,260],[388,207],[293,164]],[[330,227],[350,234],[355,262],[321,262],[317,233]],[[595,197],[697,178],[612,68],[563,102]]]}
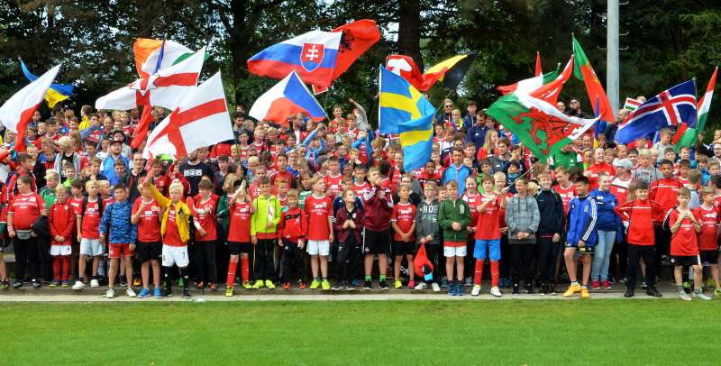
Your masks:
{"label": "front-row child in red jersey and white shorts near the centre", "polygon": [[[322,287],[324,290],[329,290],[331,283],[328,281],[328,255],[333,242],[333,200],[325,191],[324,180],[316,178],[313,183],[313,194],[306,197],[304,209],[308,215],[307,251],[311,256],[310,268],[313,272],[310,288]],[[320,267],[320,276],[318,267]]]}

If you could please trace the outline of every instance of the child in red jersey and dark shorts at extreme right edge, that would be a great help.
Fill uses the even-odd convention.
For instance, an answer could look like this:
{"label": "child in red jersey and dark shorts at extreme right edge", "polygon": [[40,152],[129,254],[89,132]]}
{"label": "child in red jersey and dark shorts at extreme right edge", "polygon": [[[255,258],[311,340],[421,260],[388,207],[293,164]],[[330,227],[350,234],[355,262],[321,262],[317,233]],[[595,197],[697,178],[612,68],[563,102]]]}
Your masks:
{"label": "child in red jersey and dark shorts at extreme right edge", "polygon": [[693,215],[696,221],[701,224],[701,231],[698,232],[698,251],[700,254],[701,264],[708,264],[711,269],[711,278],[714,280],[714,296],[721,296],[721,285],[718,281],[718,209],[714,206],[713,188],[703,188],[701,190],[701,200],[703,204],[698,206]]}

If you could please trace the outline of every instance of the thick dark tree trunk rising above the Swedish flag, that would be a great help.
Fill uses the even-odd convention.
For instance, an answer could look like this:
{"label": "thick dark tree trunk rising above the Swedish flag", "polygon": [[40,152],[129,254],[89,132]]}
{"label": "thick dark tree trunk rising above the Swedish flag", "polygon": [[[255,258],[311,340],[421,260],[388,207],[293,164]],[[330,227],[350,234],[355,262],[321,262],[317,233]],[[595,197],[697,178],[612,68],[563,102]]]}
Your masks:
{"label": "thick dark tree trunk rising above the Swedish flag", "polygon": [[398,53],[415,60],[424,71],[421,58],[421,4],[420,0],[401,1],[398,11]]}

